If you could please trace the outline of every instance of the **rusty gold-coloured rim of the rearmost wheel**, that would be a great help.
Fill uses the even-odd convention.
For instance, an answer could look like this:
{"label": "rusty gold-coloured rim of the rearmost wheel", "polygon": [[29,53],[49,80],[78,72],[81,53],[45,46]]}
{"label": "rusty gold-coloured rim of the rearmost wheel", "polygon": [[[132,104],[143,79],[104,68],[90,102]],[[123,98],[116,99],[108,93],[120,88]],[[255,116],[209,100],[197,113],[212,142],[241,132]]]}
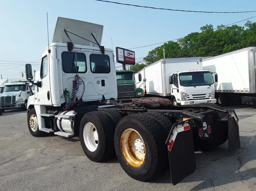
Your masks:
{"label": "rusty gold-coloured rim of the rearmost wheel", "polygon": [[140,167],[146,158],[146,148],[138,131],[126,129],[121,136],[121,151],[124,159],[133,167]]}

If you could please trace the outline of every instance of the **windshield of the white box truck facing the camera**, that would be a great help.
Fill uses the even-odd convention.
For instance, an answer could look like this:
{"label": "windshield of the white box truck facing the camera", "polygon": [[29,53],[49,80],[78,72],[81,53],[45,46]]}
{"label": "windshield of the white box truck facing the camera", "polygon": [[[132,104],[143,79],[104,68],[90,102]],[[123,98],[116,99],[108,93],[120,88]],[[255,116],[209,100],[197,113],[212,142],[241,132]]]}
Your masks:
{"label": "windshield of the white box truck facing the camera", "polygon": [[205,86],[214,83],[211,72],[184,72],[179,74],[181,86]]}

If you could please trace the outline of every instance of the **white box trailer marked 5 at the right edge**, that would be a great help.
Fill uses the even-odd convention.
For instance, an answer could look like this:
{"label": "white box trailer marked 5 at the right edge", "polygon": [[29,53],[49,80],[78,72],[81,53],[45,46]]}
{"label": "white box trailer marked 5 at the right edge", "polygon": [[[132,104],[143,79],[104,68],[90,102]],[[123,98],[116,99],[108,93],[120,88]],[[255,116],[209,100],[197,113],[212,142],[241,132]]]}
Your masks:
{"label": "white box trailer marked 5 at the right edge", "polygon": [[234,101],[256,105],[255,57],[256,47],[248,47],[203,60],[203,69],[218,73],[218,105]]}

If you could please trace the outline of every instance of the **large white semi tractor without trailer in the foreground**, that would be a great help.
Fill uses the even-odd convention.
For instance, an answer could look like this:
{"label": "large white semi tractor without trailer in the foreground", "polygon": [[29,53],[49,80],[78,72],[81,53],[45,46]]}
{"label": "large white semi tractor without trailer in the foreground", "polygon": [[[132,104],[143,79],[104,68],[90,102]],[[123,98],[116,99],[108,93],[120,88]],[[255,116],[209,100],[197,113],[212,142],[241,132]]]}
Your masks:
{"label": "large white semi tractor without trailer in the foreground", "polygon": [[124,171],[141,181],[157,177],[169,162],[174,185],[195,171],[195,150],[226,140],[230,151],[240,148],[236,113],[216,104],[173,106],[159,97],[111,104],[115,61],[113,50],[101,46],[102,32],[102,25],[58,17],[40,75],[33,81],[31,65],[25,67],[36,85],[27,105],[32,136],[80,136],[88,159],[103,162],[115,152]]}

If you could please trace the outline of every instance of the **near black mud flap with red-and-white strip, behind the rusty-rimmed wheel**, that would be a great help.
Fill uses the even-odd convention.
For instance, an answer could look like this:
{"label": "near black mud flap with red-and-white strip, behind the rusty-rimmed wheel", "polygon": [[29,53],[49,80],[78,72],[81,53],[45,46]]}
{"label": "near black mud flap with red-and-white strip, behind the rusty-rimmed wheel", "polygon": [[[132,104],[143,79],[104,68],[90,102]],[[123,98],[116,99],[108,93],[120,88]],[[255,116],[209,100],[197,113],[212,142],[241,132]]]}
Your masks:
{"label": "near black mud flap with red-and-white strip, behind the rusty-rimmed wheel", "polygon": [[173,185],[196,170],[191,122],[192,119],[175,123],[166,140]]}

